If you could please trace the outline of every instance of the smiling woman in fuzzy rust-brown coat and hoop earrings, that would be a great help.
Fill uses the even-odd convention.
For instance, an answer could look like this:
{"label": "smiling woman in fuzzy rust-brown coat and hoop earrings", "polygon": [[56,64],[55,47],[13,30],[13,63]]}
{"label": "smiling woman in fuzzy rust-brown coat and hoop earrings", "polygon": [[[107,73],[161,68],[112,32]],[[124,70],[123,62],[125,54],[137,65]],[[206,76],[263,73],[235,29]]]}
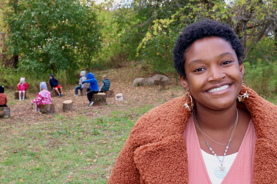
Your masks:
{"label": "smiling woman in fuzzy rust-brown coat and hoop earrings", "polygon": [[242,55],[228,25],[185,27],[173,60],[187,93],[137,121],[108,183],[277,183],[277,107],[242,84]]}

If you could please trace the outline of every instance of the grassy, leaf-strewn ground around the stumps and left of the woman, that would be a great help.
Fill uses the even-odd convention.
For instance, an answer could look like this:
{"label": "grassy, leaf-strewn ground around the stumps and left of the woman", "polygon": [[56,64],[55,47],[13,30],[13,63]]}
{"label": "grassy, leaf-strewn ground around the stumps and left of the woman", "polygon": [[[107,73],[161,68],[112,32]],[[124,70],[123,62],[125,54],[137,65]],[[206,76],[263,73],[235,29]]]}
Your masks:
{"label": "grassy, leaf-strewn ground around the stumps and left of the woman", "polygon": [[[67,86],[64,97],[54,97],[56,114],[28,110],[36,94],[13,99],[6,90],[12,118],[0,119],[1,184],[100,184],[107,183],[124,142],[137,119],[183,90],[173,78],[170,86],[132,87],[137,77],[154,74],[137,68],[120,68],[109,73],[111,89],[124,100],[108,98],[108,105],[88,107],[86,97],[72,97],[75,85]],[[103,72],[95,72],[101,78]],[[98,81],[101,85],[102,81]],[[62,101],[73,100],[71,112],[62,111]]]}

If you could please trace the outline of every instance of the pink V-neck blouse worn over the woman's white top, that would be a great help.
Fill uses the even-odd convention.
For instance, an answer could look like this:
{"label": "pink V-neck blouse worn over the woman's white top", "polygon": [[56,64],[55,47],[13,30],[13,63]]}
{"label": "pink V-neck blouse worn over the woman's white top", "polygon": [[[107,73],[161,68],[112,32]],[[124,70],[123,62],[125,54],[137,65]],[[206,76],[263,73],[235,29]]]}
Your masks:
{"label": "pink V-neck blouse worn over the woman's white top", "polygon": [[[190,116],[189,121],[187,122],[183,135],[186,139],[188,153],[189,184],[212,184],[203,160],[192,116]],[[253,164],[256,140],[257,136],[251,119],[237,156],[221,184],[253,183]],[[214,170],[214,168],[211,169]]]}

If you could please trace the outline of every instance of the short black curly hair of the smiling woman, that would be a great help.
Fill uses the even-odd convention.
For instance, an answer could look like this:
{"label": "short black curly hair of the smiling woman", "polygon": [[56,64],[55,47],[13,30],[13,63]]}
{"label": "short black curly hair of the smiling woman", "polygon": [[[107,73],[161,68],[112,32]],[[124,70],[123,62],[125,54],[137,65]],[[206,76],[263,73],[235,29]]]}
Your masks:
{"label": "short black curly hair of the smiling woman", "polygon": [[177,38],[174,49],[172,50],[174,68],[176,69],[177,73],[181,74],[183,78],[186,78],[186,72],[184,68],[184,55],[186,50],[196,40],[200,40],[208,36],[217,36],[229,42],[236,52],[239,64],[242,64],[242,43],[232,28],[228,24],[223,24],[218,21],[201,20],[190,24],[183,29],[183,32]]}

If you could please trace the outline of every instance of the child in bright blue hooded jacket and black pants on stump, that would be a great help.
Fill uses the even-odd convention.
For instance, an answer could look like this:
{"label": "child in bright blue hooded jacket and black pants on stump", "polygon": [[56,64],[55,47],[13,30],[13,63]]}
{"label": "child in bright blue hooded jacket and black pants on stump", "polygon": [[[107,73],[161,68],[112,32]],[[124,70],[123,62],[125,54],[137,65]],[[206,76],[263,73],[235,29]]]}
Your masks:
{"label": "child in bright blue hooded jacket and black pants on stump", "polygon": [[93,73],[89,72],[87,74],[87,80],[83,81],[82,84],[89,82],[89,88],[87,88],[87,99],[89,101],[88,106],[91,106],[93,104],[92,101],[92,94],[96,94],[99,91],[99,86],[96,78],[94,77]]}

